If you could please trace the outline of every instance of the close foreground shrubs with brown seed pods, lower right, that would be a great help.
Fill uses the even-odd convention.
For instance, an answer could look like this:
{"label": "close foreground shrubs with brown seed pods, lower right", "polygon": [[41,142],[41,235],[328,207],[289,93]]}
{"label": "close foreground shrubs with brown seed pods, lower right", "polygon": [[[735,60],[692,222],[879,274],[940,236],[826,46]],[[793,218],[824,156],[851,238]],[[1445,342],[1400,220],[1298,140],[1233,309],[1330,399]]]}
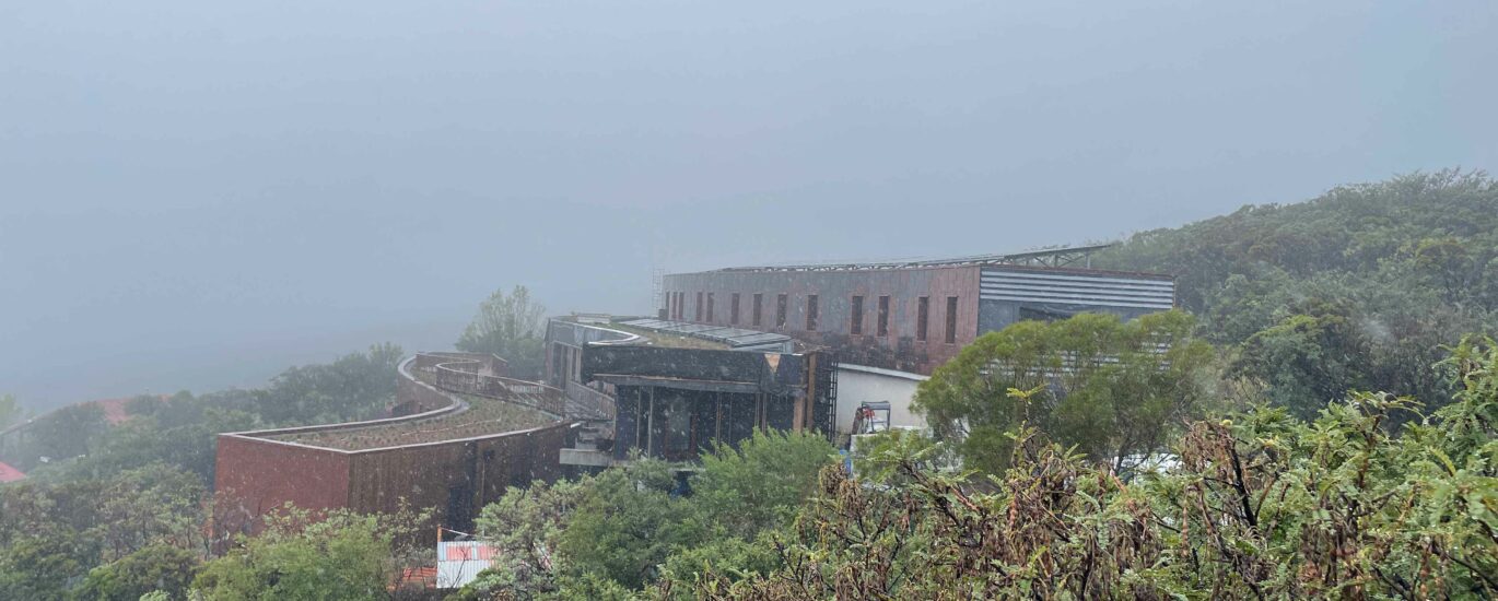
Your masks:
{"label": "close foreground shrubs with brown seed pods, lower right", "polygon": [[1192,423],[1179,466],[1119,478],[1028,423],[995,478],[890,445],[878,481],[824,471],[818,495],[739,577],[664,582],[712,600],[1494,598],[1498,352],[1444,363],[1456,402],[1407,423],[1408,397],[1359,393],[1312,423],[1255,408]]}

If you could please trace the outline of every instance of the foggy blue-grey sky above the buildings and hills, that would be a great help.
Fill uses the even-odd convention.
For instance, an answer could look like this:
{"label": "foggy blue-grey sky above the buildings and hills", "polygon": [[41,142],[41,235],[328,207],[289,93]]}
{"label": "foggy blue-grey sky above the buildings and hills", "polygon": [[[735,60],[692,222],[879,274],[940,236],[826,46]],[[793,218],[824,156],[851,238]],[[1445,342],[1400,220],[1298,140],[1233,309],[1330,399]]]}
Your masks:
{"label": "foggy blue-grey sky above the buildings and hills", "polygon": [[1498,169],[1498,3],[0,3],[0,393]]}

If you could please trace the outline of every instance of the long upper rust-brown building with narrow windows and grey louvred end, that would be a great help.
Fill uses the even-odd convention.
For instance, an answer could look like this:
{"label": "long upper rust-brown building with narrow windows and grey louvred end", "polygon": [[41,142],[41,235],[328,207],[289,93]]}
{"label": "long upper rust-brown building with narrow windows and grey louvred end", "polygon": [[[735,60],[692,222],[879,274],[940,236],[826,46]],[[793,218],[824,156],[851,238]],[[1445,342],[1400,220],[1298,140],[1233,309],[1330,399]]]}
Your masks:
{"label": "long upper rust-brown building with narrow windows and grey louvred end", "polygon": [[785,333],[842,363],[927,375],[1016,321],[1174,306],[1171,276],[1037,265],[728,268],[668,274],[664,289],[673,319]]}

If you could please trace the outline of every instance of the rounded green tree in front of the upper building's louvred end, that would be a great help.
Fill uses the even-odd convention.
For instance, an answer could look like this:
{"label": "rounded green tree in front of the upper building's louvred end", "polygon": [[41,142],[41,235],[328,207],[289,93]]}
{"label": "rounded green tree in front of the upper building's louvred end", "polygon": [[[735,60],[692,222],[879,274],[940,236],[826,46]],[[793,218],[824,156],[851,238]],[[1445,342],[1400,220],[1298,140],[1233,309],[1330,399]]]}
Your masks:
{"label": "rounded green tree in front of the upper building's louvred end", "polygon": [[1156,453],[1212,391],[1215,354],[1191,330],[1179,310],[1017,322],[938,367],[914,408],[939,438],[960,441],[969,468],[995,474],[1023,423],[1098,460]]}

